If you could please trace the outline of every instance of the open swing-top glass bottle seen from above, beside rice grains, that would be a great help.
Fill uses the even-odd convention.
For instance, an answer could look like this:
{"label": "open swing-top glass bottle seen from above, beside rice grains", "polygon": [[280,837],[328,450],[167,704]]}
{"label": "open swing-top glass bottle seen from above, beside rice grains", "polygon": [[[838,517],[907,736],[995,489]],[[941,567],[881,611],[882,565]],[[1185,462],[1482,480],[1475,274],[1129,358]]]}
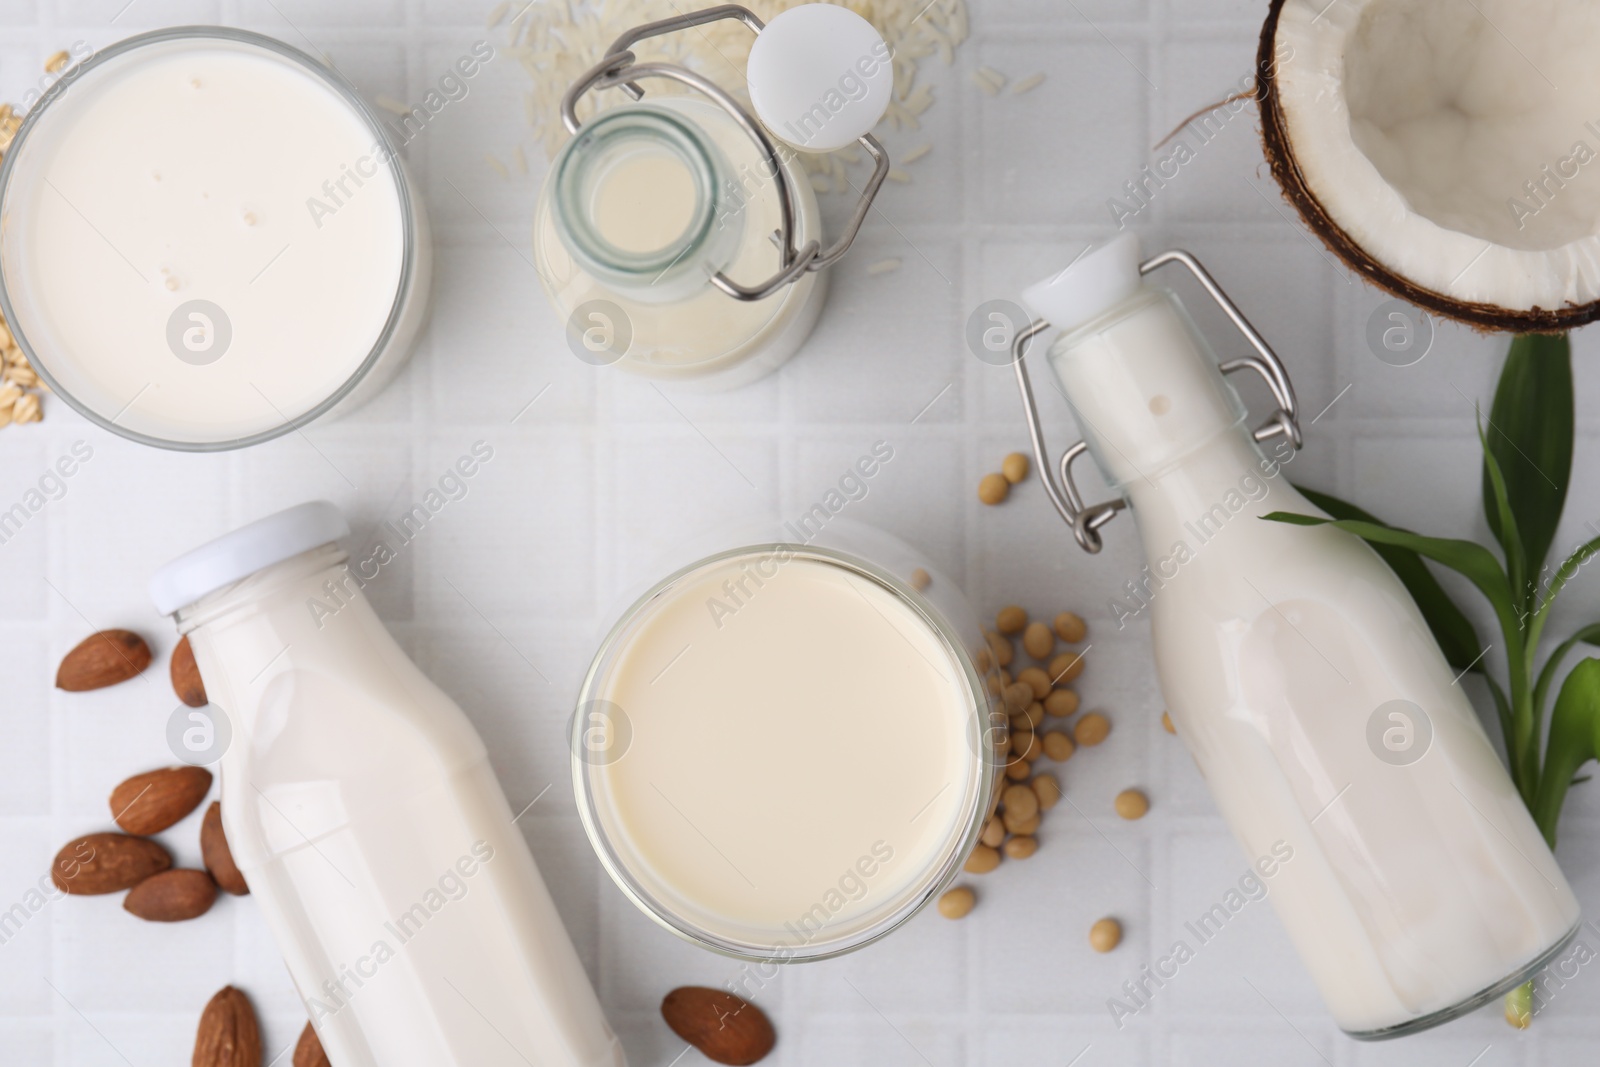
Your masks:
{"label": "open swing-top glass bottle seen from above, beside rice grains", "polygon": [[[754,114],[701,74],[635,53],[723,19],[757,34],[746,70]],[[645,96],[661,80],[694,94]],[[720,5],[622,34],[562,101],[573,136],[550,163],[534,219],[539,282],[573,352],[717,389],[787,360],[816,325],[826,269],[850,250],[888,178],[870,131],[893,82],[883,37],[832,3],[771,22]],[[605,110],[579,118],[581,102]],[[824,245],[797,150],[851,142],[875,166],[846,230]]]}

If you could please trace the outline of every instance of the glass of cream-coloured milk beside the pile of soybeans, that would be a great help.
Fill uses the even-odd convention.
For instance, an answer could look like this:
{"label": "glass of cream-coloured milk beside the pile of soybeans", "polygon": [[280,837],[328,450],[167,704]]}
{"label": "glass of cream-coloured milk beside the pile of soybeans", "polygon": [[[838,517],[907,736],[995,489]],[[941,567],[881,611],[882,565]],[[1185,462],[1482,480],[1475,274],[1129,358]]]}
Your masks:
{"label": "glass of cream-coloured milk beside the pile of soybeans", "polygon": [[978,616],[912,549],[845,520],[762,533],[621,613],[573,779],[600,861],[658,923],[819,960],[955,877],[1005,781],[1005,717]]}

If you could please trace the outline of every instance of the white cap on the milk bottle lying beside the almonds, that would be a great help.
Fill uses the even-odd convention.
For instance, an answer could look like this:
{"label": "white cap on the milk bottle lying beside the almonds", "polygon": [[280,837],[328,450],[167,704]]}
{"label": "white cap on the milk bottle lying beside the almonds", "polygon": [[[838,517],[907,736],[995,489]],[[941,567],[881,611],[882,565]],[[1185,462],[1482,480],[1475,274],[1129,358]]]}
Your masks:
{"label": "white cap on the milk bottle lying beside the almonds", "polygon": [[328,501],[299,504],[182,553],[150,579],[150,600],[162,614],[173,614],[262,568],[349,536],[350,523]]}

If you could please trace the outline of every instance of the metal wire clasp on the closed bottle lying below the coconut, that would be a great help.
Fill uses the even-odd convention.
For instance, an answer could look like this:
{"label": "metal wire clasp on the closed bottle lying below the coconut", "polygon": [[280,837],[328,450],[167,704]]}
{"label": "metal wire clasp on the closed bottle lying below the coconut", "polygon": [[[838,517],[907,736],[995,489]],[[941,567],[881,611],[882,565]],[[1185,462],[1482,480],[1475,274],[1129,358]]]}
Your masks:
{"label": "metal wire clasp on the closed bottle lying below the coconut", "polygon": [[[1250,325],[1245,314],[1222,293],[1222,288],[1216,280],[1200,266],[1200,261],[1186,251],[1173,250],[1165,251],[1158,256],[1152,256],[1139,264],[1139,274],[1147,275],[1152,270],[1165,267],[1170,262],[1176,262],[1189,270],[1197,282],[1205,288],[1206,294],[1216,301],[1216,306],[1222,309],[1229,322],[1245,334],[1245,341],[1250,347],[1256,350],[1256,355],[1246,355],[1238,360],[1227,360],[1219,365],[1224,374],[1232,374],[1234,371],[1251,370],[1261,374],[1272,389],[1274,400],[1278,402],[1278,410],[1272,416],[1256,427],[1254,438],[1258,442],[1266,442],[1274,437],[1286,438],[1296,450],[1304,443],[1299,429],[1299,403],[1294,398],[1294,386],[1290,382],[1290,374],[1283,368],[1283,362],[1272,350],[1272,346]],[[1123,507],[1128,506],[1123,499],[1104,501],[1101,504],[1085,504],[1083,494],[1078,493],[1077,483],[1072,480],[1072,461],[1088,451],[1088,442],[1078,442],[1067,451],[1061,453],[1061,459],[1051,466],[1048,459],[1048,448],[1045,446],[1045,427],[1038,418],[1038,405],[1034,403],[1034,384],[1027,376],[1027,363],[1022,358],[1027,354],[1027,344],[1045,330],[1050,323],[1043,318],[1037,318],[1022,328],[1016,338],[1011,341],[1011,365],[1016,368],[1016,387],[1022,394],[1022,413],[1027,416],[1027,434],[1034,445],[1034,462],[1038,464],[1038,477],[1045,483],[1045,493],[1050,496],[1050,502],[1054,504],[1056,512],[1061,518],[1072,526],[1072,536],[1077,539],[1078,545],[1090,553],[1099,552],[1104,547],[1101,541],[1099,530],[1112,518],[1117,517]],[[1059,482],[1058,482],[1059,478]]]}

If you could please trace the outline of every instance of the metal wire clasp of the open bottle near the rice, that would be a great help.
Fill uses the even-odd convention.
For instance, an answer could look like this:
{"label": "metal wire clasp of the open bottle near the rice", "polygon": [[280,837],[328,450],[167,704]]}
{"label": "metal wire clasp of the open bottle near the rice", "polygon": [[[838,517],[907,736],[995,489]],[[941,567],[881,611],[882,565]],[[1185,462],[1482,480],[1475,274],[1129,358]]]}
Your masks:
{"label": "metal wire clasp of the open bottle near the rice", "polygon": [[568,133],[578,133],[582,128],[582,123],[578,120],[578,101],[582,99],[584,93],[589,90],[621,88],[629,98],[635,101],[642,99],[645,96],[645,90],[638,85],[642,78],[667,78],[693,90],[699,90],[725,112],[728,112],[728,115],[739,123],[739,128],[744,130],[744,133],[749,134],[749,138],[762,149],[766,166],[771,168],[771,176],[778,182],[778,203],[782,226],[773,232],[773,240],[779,250],[779,269],[778,274],[754,286],[739,285],[722,270],[712,275],[710,283],[736,301],[762,301],[790,282],[795,282],[808,270],[832,267],[840,256],[850,251],[850,246],[856,240],[856,234],[861,232],[862,222],[867,221],[867,211],[872,210],[872,202],[877,198],[878,189],[883,187],[883,179],[890,174],[890,157],[877,138],[870,133],[862,134],[858,144],[867,150],[867,155],[872,157],[872,176],[867,179],[867,184],[861,192],[861,202],[856,205],[850,222],[845,226],[845,232],[826,250],[821,242],[816,240],[806,242],[805,248],[795,248],[795,192],[789,184],[789,173],[782,166],[778,147],[773,144],[773,139],[766,136],[762,123],[714,82],[709,82],[693,70],[677,64],[638,62],[638,58],[632,51],[634,45],[642,40],[662,37],[683,29],[693,29],[696,26],[706,26],[707,22],[720,22],[722,19],[736,19],[744,22],[755,34],[766,29],[766,24],[754,11],[739,6],[738,3],[725,3],[722,6],[706,8],[704,11],[690,11],[688,14],[678,14],[670,19],[637,26],[618,37],[611,43],[611,48],[606,50],[605,59],[590,67],[566,90],[562,96],[562,123],[566,126]]}

